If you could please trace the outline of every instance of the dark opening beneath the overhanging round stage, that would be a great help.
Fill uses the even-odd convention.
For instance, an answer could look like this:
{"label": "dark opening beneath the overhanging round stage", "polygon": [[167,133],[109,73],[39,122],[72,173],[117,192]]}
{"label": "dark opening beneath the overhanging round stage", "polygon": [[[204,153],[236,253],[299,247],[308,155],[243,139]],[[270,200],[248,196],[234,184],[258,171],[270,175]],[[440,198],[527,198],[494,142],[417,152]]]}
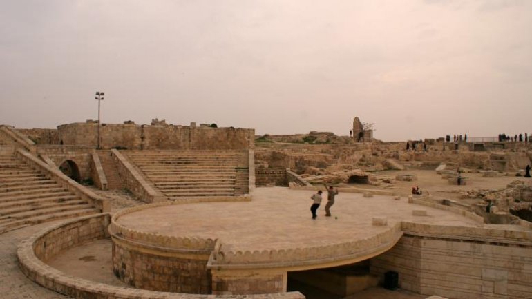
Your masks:
{"label": "dark opening beneath the overhanging round stage", "polygon": [[288,272],[287,291],[299,291],[307,299],[339,299],[376,287],[370,260],[340,267]]}

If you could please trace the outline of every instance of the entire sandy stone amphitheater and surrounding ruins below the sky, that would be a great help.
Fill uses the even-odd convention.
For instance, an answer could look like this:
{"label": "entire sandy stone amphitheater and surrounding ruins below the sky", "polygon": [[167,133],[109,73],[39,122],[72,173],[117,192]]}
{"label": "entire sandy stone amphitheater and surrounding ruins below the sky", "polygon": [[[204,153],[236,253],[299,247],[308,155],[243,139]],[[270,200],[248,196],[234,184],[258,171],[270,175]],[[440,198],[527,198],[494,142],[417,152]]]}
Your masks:
{"label": "entire sandy stone amphitheater and surrounding ruins below the sky", "polygon": [[353,129],[0,126],[2,298],[532,298],[529,144]]}

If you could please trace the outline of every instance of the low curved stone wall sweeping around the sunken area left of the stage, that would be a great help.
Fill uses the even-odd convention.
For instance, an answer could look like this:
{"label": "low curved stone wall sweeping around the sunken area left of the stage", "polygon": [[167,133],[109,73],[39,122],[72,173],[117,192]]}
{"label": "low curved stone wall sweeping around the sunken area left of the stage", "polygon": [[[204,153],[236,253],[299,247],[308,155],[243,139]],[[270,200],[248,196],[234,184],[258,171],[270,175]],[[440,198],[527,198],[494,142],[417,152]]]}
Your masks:
{"label": "low curved stone wall sweeping around the sunken area left of the stage", "polygon": [[91,299],[304,299],[299,292],[269,293],[252,296],[216,296],[187,293],[144,291],[115,287],[82,278],[75,278],[54,269],[44,260],[53,258],[62,250],[82,245],[92,240],[107,238],[109,214],[91,215],[57,224],[33,235],[19,244],[17,257],[21,271],[41,286],[74,298]]}

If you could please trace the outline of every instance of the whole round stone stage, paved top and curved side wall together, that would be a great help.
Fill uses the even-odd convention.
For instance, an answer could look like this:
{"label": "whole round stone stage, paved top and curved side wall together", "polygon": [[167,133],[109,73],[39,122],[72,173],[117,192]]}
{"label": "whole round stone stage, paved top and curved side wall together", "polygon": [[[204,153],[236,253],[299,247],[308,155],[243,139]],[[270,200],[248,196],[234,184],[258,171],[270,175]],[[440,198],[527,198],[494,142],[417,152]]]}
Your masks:
{"label": "whole round stone stage, paved top and curved side wall together", "polygon": [[141,289],[184,293],[286,291],[287,273],[367,260],[392,248],[401,224],[479,227],[478,218],[403,197],[336,195],[312,220],[314,191],[259,188],[251,201],[164,202],[116,213],[113,270]]}

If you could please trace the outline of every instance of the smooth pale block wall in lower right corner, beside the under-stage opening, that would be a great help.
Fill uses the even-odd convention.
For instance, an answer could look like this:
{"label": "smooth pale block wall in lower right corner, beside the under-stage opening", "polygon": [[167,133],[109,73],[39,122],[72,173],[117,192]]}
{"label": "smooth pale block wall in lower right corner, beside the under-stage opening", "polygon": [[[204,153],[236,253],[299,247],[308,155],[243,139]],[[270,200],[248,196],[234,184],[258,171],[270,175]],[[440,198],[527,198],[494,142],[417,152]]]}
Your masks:
{"label": "smooth pale block wall in lower right corner, beside the under-stage opening", "polygon": [[[449,298],[532,298],[532,244],[404,235],[371,260],[370,271],[399,273],[399,287]],[[517,242],[516,242],[517,243]]]}

